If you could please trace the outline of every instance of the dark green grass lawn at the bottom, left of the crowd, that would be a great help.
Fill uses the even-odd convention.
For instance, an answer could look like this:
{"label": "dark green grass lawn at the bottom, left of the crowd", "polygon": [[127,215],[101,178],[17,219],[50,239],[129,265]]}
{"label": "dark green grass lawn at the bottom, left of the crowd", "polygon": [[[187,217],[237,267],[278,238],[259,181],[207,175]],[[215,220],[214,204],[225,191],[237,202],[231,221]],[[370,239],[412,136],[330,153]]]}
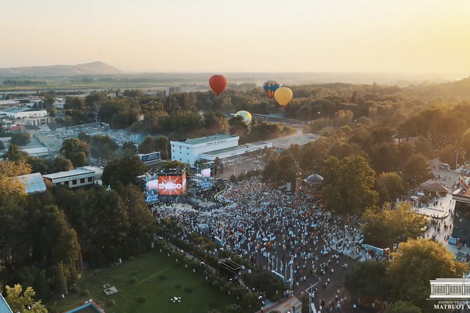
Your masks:
{"label": "dark green grass lawn at the bottom, left of the crowd", "polygon": [[[57,302],[59,312],[70,310],[88,299],[104,306],[106,313],[205,313],[213,309],[223,309],[236,299],[225,296],[214,287],[207,285],[203,274],[194,273],[185,265],[176,267],[173,258],[160,252],[149,252],[122,265],[85,272],[77,285],[88,290],[90,296],[69,293]],[[137,278],[131,283],[131,278]],[[106,283],[118,289],[117,294],[106,296],[103,285]],[[169,301],[173,296],[181,297],[181,303]],[[138,303],[136,297],[144,297]],[[116,305],[106,307],[106,301],[113,299]]]}

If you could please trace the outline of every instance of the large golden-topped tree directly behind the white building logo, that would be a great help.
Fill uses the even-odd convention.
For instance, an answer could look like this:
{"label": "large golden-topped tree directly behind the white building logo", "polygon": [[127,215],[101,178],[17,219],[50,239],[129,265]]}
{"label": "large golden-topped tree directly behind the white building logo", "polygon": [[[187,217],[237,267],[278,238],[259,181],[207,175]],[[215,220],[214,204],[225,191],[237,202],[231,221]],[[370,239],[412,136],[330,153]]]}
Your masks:
{"label": "large golden-topped tree directly behind the white building logo", "polygon": [[442,243],[420,238],[400,243],[392,254],[388,278],[393,283],[395,301],[409,301],[424,312],[431,312],[429,281],[435,278],[459,278],[468,272],[467,263],[460,263]]}

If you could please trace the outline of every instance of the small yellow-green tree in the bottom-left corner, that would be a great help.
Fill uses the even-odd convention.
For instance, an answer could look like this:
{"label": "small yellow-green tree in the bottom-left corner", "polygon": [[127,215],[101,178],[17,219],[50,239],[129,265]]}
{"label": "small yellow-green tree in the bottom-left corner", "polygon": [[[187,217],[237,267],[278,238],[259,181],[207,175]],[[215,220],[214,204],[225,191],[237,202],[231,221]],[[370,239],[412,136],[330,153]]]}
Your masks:
{"label": "small yellow-green tree in the bottom-left corner", "polygon": [[34,300],[35,294],[32,287],[27,287],[23,292],[23,287],[19,284],[15,287],[6,286],[5,300],[15,313],[47,313],[46,307],[41,304],[41,301]]}

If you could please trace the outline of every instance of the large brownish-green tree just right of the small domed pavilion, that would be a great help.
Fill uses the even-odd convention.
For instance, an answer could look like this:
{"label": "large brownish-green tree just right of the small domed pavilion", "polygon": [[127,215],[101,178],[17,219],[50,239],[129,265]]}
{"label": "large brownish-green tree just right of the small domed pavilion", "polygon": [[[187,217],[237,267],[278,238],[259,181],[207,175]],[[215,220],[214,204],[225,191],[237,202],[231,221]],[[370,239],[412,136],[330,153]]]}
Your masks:
{"label": "large brownish-green tree just right of the small domed pavilion", "polygon": [[337,214],[361,214],[373,207],[378,200],[373,190],[375,171],[361,157],[343,158],[330,156],[324,160],[321,171],[326,207]]}

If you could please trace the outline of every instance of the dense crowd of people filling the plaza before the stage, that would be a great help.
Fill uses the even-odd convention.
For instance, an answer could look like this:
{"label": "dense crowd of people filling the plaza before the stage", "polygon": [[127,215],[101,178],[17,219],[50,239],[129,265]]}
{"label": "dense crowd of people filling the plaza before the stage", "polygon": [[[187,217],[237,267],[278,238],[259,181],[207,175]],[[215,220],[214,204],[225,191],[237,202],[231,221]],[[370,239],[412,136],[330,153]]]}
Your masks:
{"label": "dense crowd of people filling the plaza before the stage", "polygon": [[[178,220],[184,229],[182,240],[200,232],[199,225],[208,225],[207,236],[220,238],[223,249],[285,276],[296,294],[317,283],[314,294],[320,297],[330,289],[334,301],[348,261],[365,258],[359,218],[333,216],[321,209],[321,199],[296,199],[251,178],[229,183],[218,200],[225,205],[211,211],[162,205],[155,214]],[[335,287],[328,287],[330,283]]]}

